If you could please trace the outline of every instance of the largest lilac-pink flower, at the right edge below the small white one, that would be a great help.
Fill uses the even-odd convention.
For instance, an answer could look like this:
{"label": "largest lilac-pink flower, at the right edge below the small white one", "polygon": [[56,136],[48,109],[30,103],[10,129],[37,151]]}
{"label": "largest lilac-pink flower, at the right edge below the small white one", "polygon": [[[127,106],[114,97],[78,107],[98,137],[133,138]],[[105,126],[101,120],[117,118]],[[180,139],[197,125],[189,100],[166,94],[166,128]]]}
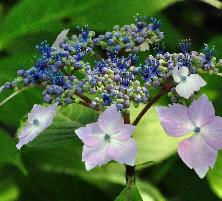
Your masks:
{"label": "largest lilac-pink flower, at the right edge below the small white one", "polygon": [[206,95],[194,100],[189,107],[173,104],[157,107],[165,132],[174,137],[193,132],[183,140],[178,153],[183,162],[203,178],[214,167],[217,151],[222,149],[222,118],[215,115],[214,107]]}

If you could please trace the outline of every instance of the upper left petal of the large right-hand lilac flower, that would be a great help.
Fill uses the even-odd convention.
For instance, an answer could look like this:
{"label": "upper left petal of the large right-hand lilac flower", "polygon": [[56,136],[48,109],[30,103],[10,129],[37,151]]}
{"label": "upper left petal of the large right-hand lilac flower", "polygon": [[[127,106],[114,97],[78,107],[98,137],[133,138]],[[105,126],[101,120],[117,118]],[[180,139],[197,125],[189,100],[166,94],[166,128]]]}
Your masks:
{"label": "upper left petal of the large right-hand lilac flower", "polygon": [[173,104],[169,107],[156,107],[156,109],[160,122],[168,135],[179,137],[194,130],[186,106]]}

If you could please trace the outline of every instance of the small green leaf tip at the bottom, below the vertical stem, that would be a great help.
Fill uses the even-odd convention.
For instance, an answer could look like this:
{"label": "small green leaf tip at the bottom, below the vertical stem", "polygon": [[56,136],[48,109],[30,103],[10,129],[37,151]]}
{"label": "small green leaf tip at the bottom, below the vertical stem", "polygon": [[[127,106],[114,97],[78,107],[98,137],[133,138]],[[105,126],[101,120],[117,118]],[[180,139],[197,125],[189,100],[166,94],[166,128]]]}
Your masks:
{"label": "small green leaf tip at the bottom, below the vertical stem", "polygon": [[131,188],[126,187],[120,193],[120,195],[115,199],[115,201],[143,201],[136,185]]}

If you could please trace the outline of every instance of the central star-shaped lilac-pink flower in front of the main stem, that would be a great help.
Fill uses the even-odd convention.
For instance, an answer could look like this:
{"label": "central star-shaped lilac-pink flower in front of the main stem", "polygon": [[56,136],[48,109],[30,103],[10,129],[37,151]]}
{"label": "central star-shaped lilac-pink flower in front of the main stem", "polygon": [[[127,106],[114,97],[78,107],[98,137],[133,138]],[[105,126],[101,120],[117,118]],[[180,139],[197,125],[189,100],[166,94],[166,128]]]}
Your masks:
{"label": "central star-shaped lilac-pink flower in front of the main stem", "polygon": [[131,138],[135,126],[124,124],[116,106],[106,109],[98,119],[77,129],[77,136],[84,143],[82,160],[86,170],[101,166],[111,160],[133,166],[136,142]]}

